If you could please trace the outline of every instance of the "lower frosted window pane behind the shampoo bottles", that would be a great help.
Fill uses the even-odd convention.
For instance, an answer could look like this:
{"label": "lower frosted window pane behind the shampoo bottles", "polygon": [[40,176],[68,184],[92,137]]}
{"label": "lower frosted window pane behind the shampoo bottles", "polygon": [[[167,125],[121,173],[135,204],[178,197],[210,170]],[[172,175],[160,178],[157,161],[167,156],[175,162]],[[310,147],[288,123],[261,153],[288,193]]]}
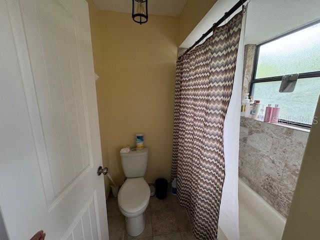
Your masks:
{"label": "lower frosted window pane behind the shampoo bottles", "polygon": [[320,94],[320,77],[300,78],[293,92],[279,92],[281,81],[266,81],[253,84],[255,100],[267,106],[279,104],[279,119],[311,124]]}

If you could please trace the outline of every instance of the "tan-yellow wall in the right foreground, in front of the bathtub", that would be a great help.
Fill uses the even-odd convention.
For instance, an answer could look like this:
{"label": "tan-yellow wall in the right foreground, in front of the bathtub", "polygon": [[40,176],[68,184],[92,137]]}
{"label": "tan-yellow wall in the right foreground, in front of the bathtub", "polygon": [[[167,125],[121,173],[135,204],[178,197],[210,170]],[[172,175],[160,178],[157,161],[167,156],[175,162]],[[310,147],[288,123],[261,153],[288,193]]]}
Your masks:
{"label": "tan-yellow wall in the right foreground, in front of the bathtub", "polygon": [[314,115],[282,240],[320,239],[320,98]]}

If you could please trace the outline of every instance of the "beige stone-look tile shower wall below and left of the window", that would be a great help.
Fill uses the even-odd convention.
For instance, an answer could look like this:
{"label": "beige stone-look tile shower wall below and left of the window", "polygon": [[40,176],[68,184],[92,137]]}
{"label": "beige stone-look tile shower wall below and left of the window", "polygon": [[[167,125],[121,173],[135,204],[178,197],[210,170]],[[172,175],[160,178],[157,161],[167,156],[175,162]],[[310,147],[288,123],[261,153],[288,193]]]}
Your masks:
{"label": "beige stone-look tile shower wall below and left of the window", "polygon": [[[249,89],[255,45],[245,46],[242,96]],[[239,177],[287,217],[308,132],[241,117]]]}

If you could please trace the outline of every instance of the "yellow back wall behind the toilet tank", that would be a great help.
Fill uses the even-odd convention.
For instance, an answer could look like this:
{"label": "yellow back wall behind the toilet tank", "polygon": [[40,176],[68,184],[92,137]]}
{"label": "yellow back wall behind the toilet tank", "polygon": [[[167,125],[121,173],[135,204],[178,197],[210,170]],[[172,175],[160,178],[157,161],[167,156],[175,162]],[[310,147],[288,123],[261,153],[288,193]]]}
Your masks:
{"label": "yellow back wall behind the toilet tank", "polygon": [[99,111],[106,114],[100,127],[106,129],[102,151],[109,172],[123,182],[119,150],[135,146],[135,133],[143,132],[149,147],[146,181],[169,179],[178,19],[151,15],[139,25],[129,13],[100,11],[99,21],[103,82],[97,93]]}

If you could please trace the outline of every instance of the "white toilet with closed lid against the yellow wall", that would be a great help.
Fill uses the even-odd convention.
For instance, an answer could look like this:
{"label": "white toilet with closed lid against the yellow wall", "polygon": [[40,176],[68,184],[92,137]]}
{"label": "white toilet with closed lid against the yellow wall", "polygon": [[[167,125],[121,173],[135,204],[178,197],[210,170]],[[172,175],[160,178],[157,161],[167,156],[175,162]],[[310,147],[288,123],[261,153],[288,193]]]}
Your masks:
{"label": "white toilet with closed lid against the yellow wall", "polygon": [[120,153],[126,180],[118,192],[118,206],[125,216],[126,232],[137,236],[144,230],[144,211],[149,203],[150,188],[143,176],[148,159],[148,148],[130,149]]}

